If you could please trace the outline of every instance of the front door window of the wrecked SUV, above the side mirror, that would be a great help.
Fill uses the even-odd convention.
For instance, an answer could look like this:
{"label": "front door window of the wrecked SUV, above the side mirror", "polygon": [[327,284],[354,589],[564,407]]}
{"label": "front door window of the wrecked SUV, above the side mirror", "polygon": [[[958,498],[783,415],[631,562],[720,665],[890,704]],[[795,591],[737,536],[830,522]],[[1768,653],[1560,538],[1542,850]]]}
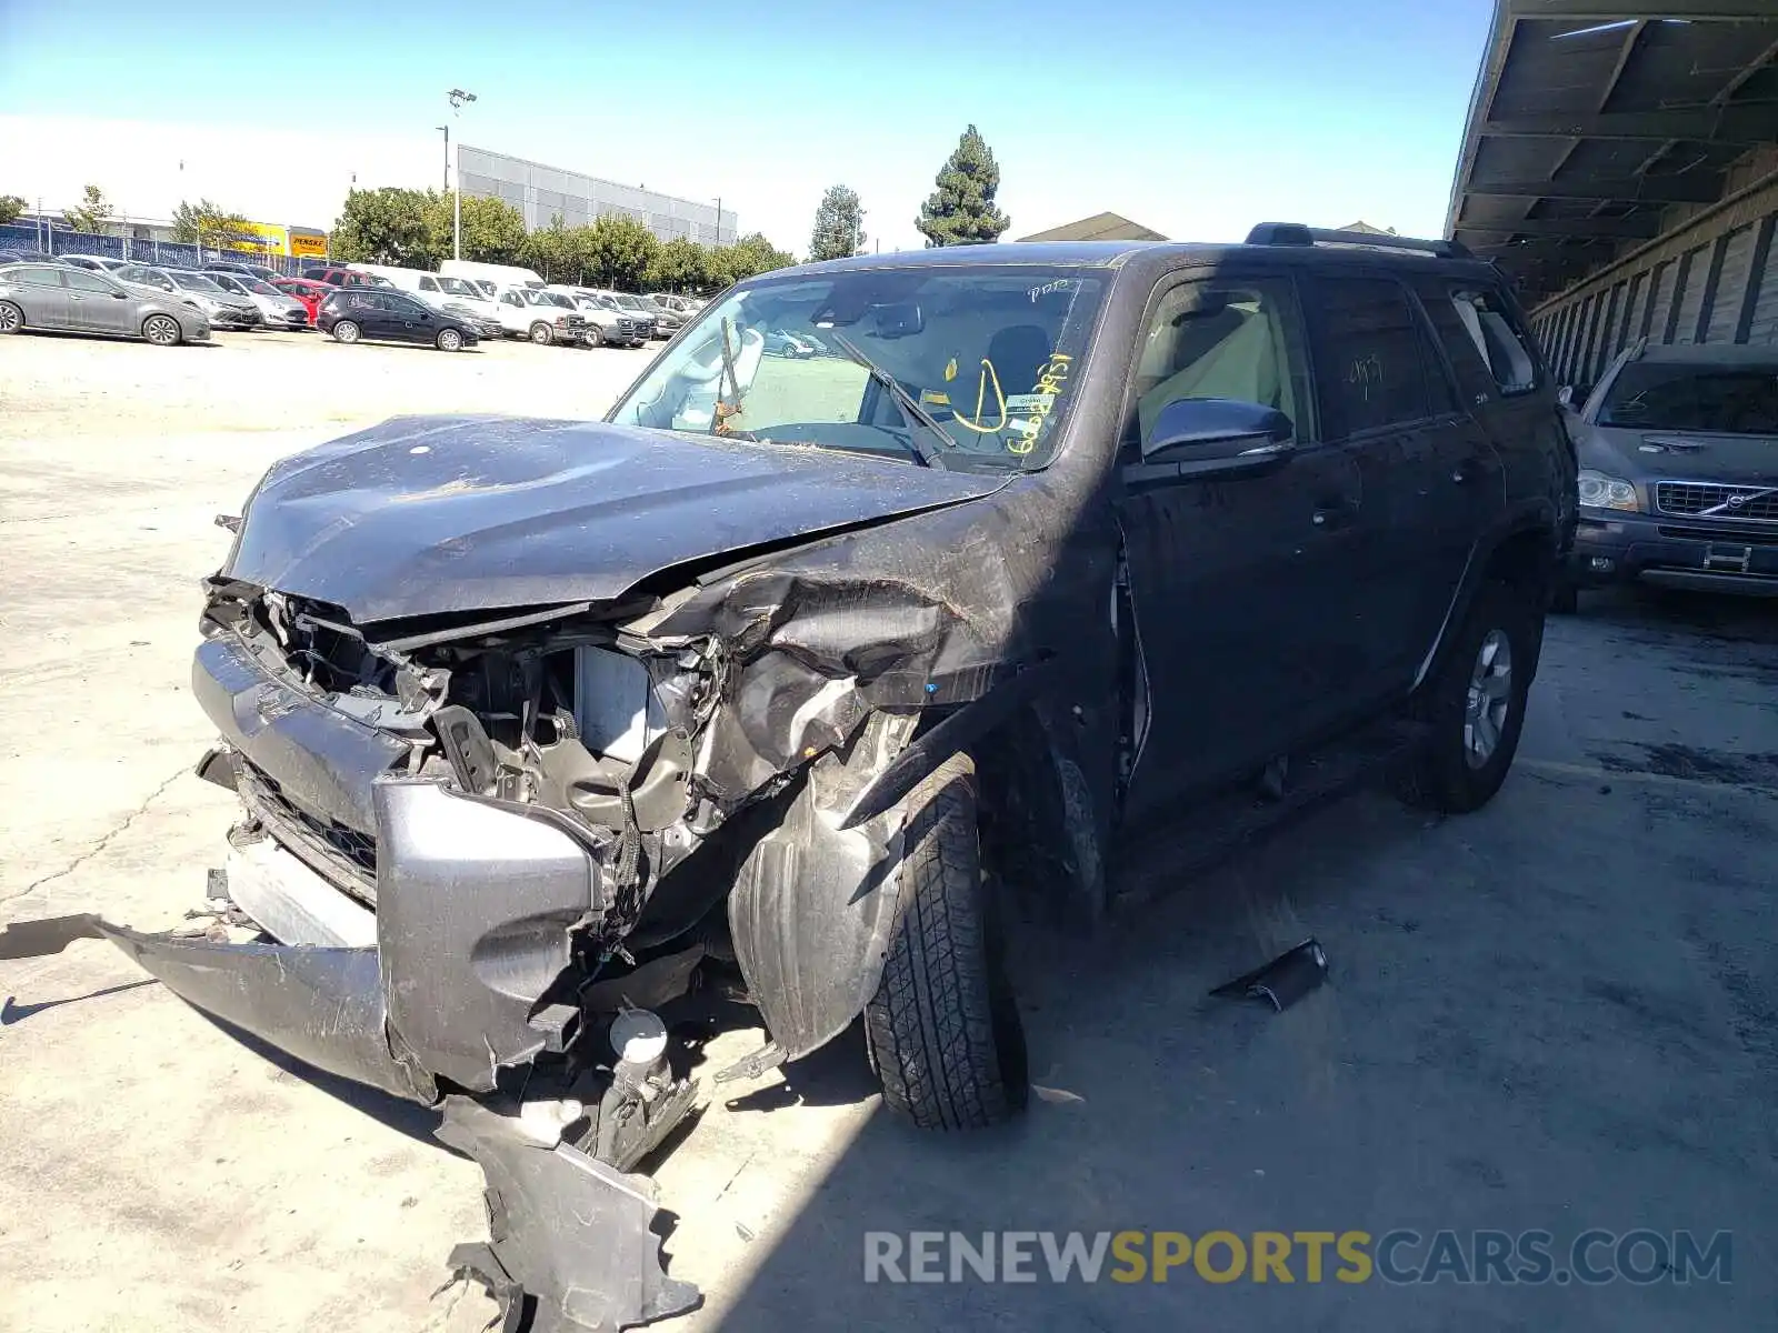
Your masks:
{"label": "front door window of the wrecked SUV, above the side mirror", "polygon": [[1163,293],[1136,347],[1136,411],[1124,439],[1147,444],[1182,398],[1277,407],[1298,443],[1316,439],[1303,325],[1287,279],[1202,279]]}

